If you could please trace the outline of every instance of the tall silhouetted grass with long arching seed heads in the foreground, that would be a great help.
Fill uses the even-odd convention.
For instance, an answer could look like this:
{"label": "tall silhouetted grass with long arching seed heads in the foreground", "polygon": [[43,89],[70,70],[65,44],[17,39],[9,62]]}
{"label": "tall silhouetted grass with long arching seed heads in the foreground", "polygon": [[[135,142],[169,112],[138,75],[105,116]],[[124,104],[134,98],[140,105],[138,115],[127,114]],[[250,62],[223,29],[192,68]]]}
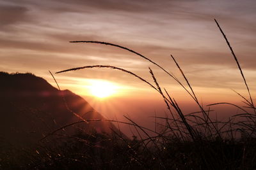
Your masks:
{"label": "tall silhouetted grass with long arching seed heads in the foreground", "polygon": [[[150,67],[148,69],[154,80],[154,84],[131,71],[115,66],[95,65],[65,69],[57,73],[65,73],[79,69],[92,69],[95,67],[108,68],[131,74],[143,81],[163,97],[163,101],[168,108],[169,113],[166,117],[154,117],[156,122],[157,119],[164,120],[162,124],[156,123],[158,127],[161,127],[161,130],[156,131],[156,128],[152,130],[141,127],[128,117],[125,117],[127,122],[119,122],[118,120],[84,120],[81,118],[81,121],[65,125],[65,127],[56,129],[56,131],[45,136],[45,138],[42,139],[43,143],[49,136],[58,136],[58,140],[47,140],[49,143],[54,143],[54,145],[47,145],[47,147],[42,145],[42,147],[36,149],[36,152],[35,150],[29,152],[26,159],[29,163],[22,164],[22,167],[17,165],[17,168],[256,169],[256,108],[253,104],[250,88],[246,83],[239,61],[232,50],[227,36],[222,31],[218,22],[216,20],[215,22],[227,42],[228,48],[241,72],[249,99],[246,99],[246,97],[234,91],[243,99],[243,103],[246,104],[245,108],[232,103],[214,103],[208,106],[228,104],[238,108],[241,113],[228,118],[226,122],[220,122],[212,118],[212,110],[210,110],[210,107],[204,108],[202,104],[199,103],[192,85],[189,83],[188,78],[173,55],[171,55],[171,57],[179,68],[187,85],[183,85],[174,74],[169,73],[156,62],[124,46],[101,41],[71,41],[71,43],[97,43],[114,46],[148,60],[159,67],[159,69],[163,70],[164,73],[168,74],[170,78],[177,81],[177,83],[188,92],[193,101],[195,101],[200,111],[184,114],[177,101],[166,89],[159,85]],[[63,98],[63,101],[65,103],[65,98]],[[67,109],[69,110],[68,106]],[[74,114],[77,116],[76,113]],[[116,131],[113,131],[111,135],[97,134],[96,132],[84,134],[82,131],[77,132],[74,136],[58,134],[58,131],[63,128],[91,121],[109,121],[117,124],[127,124],[136,129],[137,135],[133,136],[133,139],[127,139],[122,135],[122,132]],[[239,136],[237,134],[241,135]],[[8,161],[6,160],[5,162]],[[12,167],[10,164],[4,166],[7,168]]]}

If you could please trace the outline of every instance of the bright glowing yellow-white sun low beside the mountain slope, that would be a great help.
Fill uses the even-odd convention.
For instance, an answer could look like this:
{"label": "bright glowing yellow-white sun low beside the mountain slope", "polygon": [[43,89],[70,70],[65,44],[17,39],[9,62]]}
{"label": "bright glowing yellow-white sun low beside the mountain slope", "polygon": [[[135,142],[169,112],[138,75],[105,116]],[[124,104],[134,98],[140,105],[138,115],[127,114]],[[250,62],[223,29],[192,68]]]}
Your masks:
{"label": "bright glowing yellow-white sun low beside the mountain slope", "polygon": [[118,88],[114,83],[104,80],[93,80],[88,86],[88,90],[91,95],[101,99],[113,96],[116,94],[117,89]]}

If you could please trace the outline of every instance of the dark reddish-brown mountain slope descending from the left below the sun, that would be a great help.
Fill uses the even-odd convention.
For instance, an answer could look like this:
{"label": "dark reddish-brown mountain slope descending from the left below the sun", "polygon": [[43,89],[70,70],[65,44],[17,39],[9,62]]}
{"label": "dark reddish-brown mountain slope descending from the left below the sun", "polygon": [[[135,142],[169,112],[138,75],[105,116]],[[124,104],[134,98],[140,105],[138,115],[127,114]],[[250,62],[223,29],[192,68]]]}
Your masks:
{"label": "dark reddish-brown mountain slope descending from the left below the sun", "polygon": [[[64,125],[86,120],[106,120],[82,97],[69,90],[58,90],[31,73],[0,72],[0,141],[12,145],[31,145]],[[72,111],[68,110],[67,106]],[[108,121],[81,122],[58,133],[76,134],[117,131]]]}

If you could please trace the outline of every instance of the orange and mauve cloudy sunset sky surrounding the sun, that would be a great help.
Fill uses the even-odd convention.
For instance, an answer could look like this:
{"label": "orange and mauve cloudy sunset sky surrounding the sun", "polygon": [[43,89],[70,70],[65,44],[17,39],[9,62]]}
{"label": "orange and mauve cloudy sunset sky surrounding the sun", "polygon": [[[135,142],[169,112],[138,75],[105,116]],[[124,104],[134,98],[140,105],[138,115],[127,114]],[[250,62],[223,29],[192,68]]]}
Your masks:
{"label": "orange and mauve cloudy sunset sky surrounding the sun", "polygon": [[[186,85],[172,54],[202,103],[237,103],[241,98],[230,89],[248,94],[216,18],[255,99],[255,9],[254,0],[0,0],[0,71],[33,73],[56,86],[49,70],[100,64],[122,67],[154,83],[150,67],[161,87],[180,104],[193,103],[177,82],[138,55],[113,46],[69,43],[106,41],[147,56]],[[121,71],[84,69],[54,76],[61,89],[83,96],[109,118],[113,112],[108,106],[119,108],[118,115],[133,117],[141,111],[148,116],[165,110],[154,89]],[[94,99],[87,87],[97,80],[115,83],[119,87],[115,97]],[[196,108],[189,105],[184,110]]]}

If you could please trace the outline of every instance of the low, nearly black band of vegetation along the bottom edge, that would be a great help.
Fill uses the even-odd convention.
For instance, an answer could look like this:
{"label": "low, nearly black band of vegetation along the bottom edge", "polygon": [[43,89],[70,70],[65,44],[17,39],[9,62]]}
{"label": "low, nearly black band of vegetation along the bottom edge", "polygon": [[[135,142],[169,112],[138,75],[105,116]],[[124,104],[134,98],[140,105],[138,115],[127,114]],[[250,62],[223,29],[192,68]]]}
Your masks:
{"label": "low, nearly black band of vegetation along the bottom edge", "polygon": [[[159,138],[160,139],[160,138]],[[255,139],[182,141],[153,145],[120,136],[77,134],[36,150],[1,155],[2,169],[255,169]],[[17,152],[19,151],[19,152]],[[3,157],[2,157],[3,156]]]}

